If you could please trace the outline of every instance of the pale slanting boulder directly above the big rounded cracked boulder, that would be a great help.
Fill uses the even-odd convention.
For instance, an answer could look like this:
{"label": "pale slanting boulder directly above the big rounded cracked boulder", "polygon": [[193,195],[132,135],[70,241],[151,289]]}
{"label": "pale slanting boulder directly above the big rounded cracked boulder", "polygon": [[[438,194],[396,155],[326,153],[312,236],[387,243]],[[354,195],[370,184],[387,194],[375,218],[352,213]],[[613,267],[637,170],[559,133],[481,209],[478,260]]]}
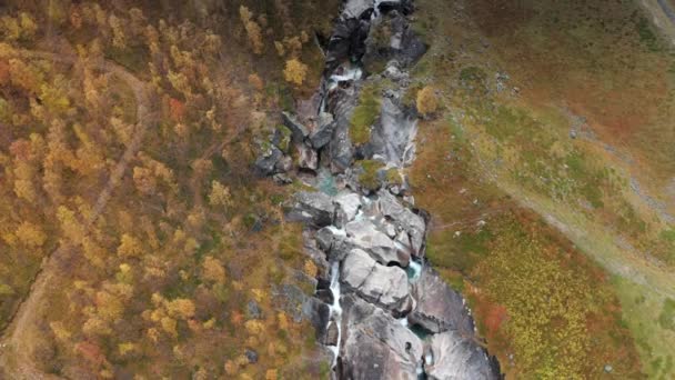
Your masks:
{"label": "pale slanting boulder directly above the big rounded cracked boulder", "polygon": [[346,223],[345,230],[346,242],[366,251],[381,264],[399,264],[405,268],[410,263],[410,256],[402,254],[394,241],[380,231],[371,220],[353,220]]}

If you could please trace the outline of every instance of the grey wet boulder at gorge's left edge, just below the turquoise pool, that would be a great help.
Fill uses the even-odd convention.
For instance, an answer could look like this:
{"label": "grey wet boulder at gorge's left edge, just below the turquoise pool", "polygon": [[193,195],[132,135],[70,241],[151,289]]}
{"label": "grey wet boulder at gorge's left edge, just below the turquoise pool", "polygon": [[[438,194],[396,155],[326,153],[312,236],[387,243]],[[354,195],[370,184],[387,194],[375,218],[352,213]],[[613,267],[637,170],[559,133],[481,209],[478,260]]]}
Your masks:
{"label": "grey wet boulder at gorge's left edge, just below the turquoise pool", "polygon": [[324,227],[332,223],[334,211],[331,197],[322,192],[302,191],[295,194],[286,219]]}

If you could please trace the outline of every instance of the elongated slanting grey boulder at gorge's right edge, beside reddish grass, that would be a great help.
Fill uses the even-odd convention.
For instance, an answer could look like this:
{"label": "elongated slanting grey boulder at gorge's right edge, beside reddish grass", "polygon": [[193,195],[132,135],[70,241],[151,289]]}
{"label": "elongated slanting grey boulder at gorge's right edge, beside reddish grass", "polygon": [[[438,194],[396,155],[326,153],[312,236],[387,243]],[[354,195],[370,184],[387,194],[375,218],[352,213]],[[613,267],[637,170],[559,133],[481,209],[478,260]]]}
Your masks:
{"label": "elongated slanting grey boulder at gorge's right edge, beside reddish grass", "polygon": [[400,229],[407,232],[413,254],[420,256],[426,236],[426,222],[424,221],[424,218],[403,206],[401,201],[389,191],[380,191],[377,196],[380,212],[392,220]]}

